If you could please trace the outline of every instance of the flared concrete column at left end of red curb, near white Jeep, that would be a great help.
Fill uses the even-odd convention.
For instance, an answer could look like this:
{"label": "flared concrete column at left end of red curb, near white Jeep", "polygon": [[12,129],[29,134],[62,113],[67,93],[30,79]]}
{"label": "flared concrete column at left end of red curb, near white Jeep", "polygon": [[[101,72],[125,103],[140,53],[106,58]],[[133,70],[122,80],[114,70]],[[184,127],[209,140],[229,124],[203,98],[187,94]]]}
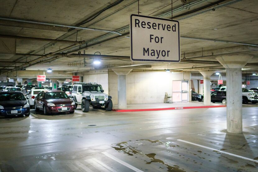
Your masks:
{"label": "flared concrete column at left end of red curb, near white Jeep", "polygon": [[118,75],[118,109],[127,108],[127,99],[126,99],[126,75],[131,72],[132,69],[128,68],[113,68],[112,69]]}

